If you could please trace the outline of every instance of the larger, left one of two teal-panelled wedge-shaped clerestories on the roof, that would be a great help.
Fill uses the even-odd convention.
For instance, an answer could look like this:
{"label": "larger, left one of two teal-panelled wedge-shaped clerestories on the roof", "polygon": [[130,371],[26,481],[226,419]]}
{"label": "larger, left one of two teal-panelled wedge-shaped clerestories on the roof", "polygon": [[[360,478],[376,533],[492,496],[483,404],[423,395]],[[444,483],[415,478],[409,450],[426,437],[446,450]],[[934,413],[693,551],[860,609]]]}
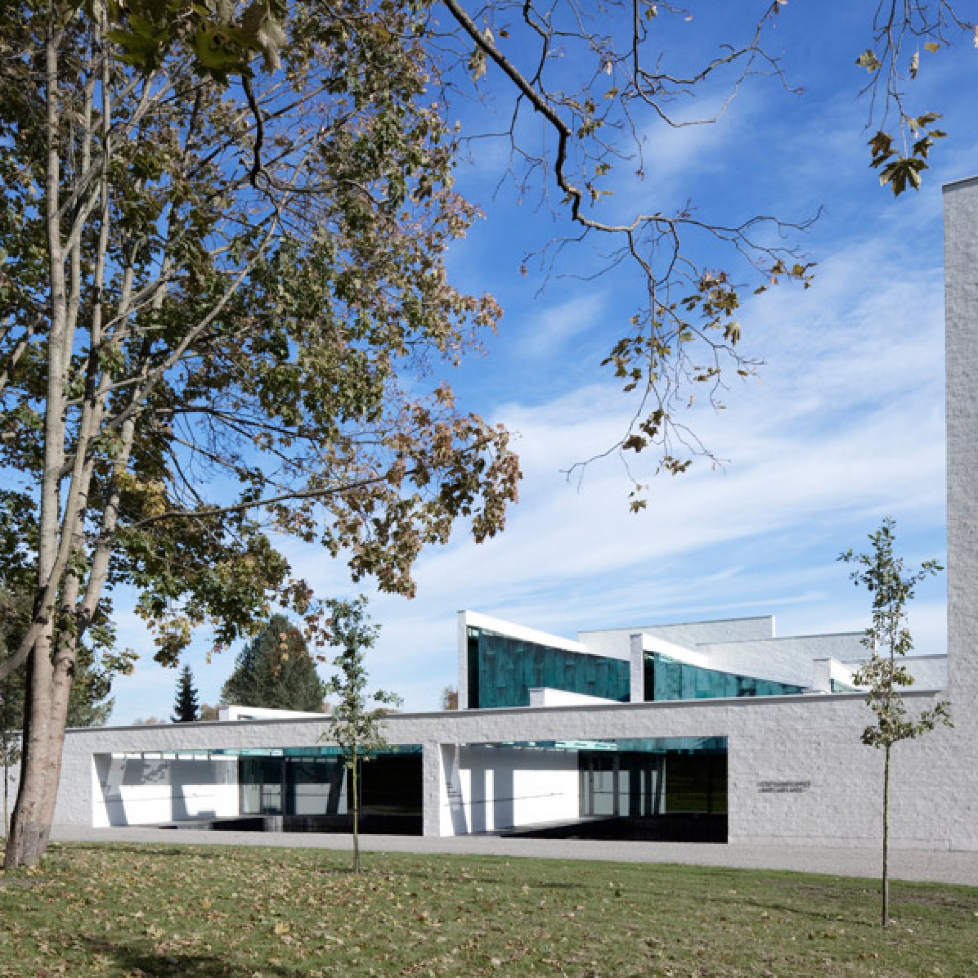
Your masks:
{"label": "larger, left one of two teal-panelled wedge-shaped clerestories on the roof", "polygon": [[547,687],[629,699],[629,664],[623,659],[585,655],[550,645],[468,630],[468,706],[491,709],[529,706],[530,689]]}

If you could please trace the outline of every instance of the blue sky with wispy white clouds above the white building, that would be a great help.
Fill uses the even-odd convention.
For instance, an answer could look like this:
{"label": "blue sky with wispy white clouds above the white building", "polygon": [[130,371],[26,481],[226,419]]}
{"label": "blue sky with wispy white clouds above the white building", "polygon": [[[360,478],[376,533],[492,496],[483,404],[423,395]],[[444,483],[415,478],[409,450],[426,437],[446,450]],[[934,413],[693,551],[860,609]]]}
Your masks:
{"label": "blue sky with wispy white clouds above the white building", "polygon": [[[729,29],[730,5],[701,7],[712,18],[707,34]],[[639,514],[628,511],[630,483],[617,456],[583,477],[563,474],[613,444],[634,408],[599,365],[634,309],[636,283],[623,274],[573,277],[599,267],[588,245],[565,252],[549,280],[532,261],[521,275],[525,253],[567,228],[536,198],[497,189],[505,147],[474,145],[459,186],[486,217],[450,266],[463,287],[493,292],[505,316],[484,354],[450,379],[463,404],[514,432],[524,479],[500,537],[475,546],[460,528],[447,547],[422,556],[416,599],[372,601],[382,631],[369,665],[406,709],[435,708],[454,683],[460,608],[567,637],[768,613],[781,635],[862,630],[867,596],[837,562],[841,551],[862,549],[888,514],[911,562],[944,556],[940,186],[978,172],[968,97],[978,52],[962,43],[923,60],[911,104],[943,111],[951,136],[935,151],[924,189],[894,200],[867,165],[868,106],[857,97],[866,73],[855,65],[867,27],[856,8],[785,7],[769,47],[804,94],[749,79],[716,125],[648,124],[645,180],[630,181],[626,167],[614,178],[611,215],[687,199],[718,221],[754,213],[801,221],[822,208],[797,238],[818,263],[813,287],[781,286],[741,310],[744,352],[765,362],[758,378],[733,383],[726,410],[695,405],[689,413],[724,464],[657,477]],[[491,97],[495,80],[490,69]],[[709,115],[719,98],[707,91],[683,111]],[[491,98],[493,109],[505,114],[505,100]],[[466,110],[472,125],[474,111]],[[716,264],[724,262],[718,253]],[[321,596],[371,594],[321,554],[287,550]],[[943,577],[919,589],[911,614],[919,652],[944,650],[945,592]],[[116,681],[112,722],[168,718],[177,674],[156,667],[141,623],[124,605],[119,611],[120,640],[147,658]],[[188,661],[201,699],[215,702],[236,650],[207,663],[205,639]]]}

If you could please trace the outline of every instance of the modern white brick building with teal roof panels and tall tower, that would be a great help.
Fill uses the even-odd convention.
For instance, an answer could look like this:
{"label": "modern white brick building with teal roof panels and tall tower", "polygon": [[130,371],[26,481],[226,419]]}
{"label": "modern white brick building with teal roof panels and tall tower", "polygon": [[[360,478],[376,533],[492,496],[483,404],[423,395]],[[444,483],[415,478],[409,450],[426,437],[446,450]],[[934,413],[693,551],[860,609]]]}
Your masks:
{"label": "modern white brick building with teal roof panels and tall tower", "polygon": [[[948,650],[907,661],[905,695],[949,700],[954,727],[894,750],[891,837],[978,850],[978,178],[945,188],[945,222]],[[572,642],[474,612],[458,634],[459,709],[386,720],[368,830],[878,844],[860,634],[761,617]],[[328,722],[255,713],[68,732],[56,824],[344,829]]]}

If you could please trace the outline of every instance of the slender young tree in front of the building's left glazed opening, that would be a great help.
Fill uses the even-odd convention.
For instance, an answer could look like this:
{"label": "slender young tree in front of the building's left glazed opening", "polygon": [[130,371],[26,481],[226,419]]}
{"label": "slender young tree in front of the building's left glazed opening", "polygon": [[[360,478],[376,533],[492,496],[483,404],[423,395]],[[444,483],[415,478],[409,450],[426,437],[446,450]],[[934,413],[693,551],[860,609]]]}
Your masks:
{"label": "slender young tree in front of the building's left glazed opening", "polygon": [[[379,627],[366,612],[367,600],[329,600],[328,628],[330,645],[339,649],[333,659],[336,673],[327,684],[327,693],[335,696],[331,704],[330,728],[324,738],[339,745],[343,763],[350,773],[350,806],[353,813],[353,869],[360,871],[360,767],[386,744],[383,718],[392,707],[399,706],[400,696],[378,690],[367,693],[366,651],[377,642]],[[371,703],[378,704],[373,709]]]}

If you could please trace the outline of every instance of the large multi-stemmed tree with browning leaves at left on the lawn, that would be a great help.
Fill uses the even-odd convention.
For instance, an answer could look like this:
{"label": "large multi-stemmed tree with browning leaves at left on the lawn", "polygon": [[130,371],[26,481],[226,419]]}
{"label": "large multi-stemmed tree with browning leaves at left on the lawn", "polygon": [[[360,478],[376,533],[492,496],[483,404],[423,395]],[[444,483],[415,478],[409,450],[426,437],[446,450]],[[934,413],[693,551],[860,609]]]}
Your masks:
{"label": "large multi-stemmed tree with browning leaves at left on the lawn", "polygon": [[0,465],[35,574],[0,665],[28,680],[10,867],[46,847],[113,583],[173,662],[202,623],[223,644],[273,597],[310,611],[282,535],[410,593],[421,548],[458,517],[495,533],[518,477],[436,374],[498,309],[445,273],[474,210],[413,8],[291,5],[275,69],[229,77],[204,39],[124,63],[125,6],[0,8]]}

